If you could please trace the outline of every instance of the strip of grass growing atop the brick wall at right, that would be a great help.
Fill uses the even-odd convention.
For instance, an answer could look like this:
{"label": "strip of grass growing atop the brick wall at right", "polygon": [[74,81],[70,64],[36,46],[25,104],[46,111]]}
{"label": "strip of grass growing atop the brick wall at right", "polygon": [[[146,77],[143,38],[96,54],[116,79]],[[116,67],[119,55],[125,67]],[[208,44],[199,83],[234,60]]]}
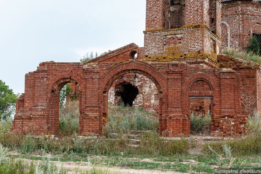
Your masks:
{"label": "strip of grass growing atop the brick wall at right", "polygon": [[238,58],[252,60],[254,62],[261,62],[261,57],[254,54],[253,52],[246,52],[234,48],[225,48],[222,50],[223,54],[231,55]]}

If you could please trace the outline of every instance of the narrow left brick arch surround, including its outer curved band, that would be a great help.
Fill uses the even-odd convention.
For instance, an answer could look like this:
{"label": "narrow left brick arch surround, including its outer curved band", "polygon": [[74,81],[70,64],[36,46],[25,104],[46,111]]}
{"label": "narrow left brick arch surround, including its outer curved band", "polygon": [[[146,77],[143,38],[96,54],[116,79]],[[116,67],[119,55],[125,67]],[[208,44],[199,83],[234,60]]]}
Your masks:
{"label": "narrow left brick arch surround, including its outer curved band", "polygon": [[82,117],[82,95],[85,89],[85,82],[76,74],[70,72],[58,73],[52,78],[49,79],[47,84],[47,129],[49,134],[57,135],[59,130],[59,99],[60,91],[64,85],[67,83],[74,83],[80,94],[78,95],[79,99],[79,127],[82,124],[80,122]]}

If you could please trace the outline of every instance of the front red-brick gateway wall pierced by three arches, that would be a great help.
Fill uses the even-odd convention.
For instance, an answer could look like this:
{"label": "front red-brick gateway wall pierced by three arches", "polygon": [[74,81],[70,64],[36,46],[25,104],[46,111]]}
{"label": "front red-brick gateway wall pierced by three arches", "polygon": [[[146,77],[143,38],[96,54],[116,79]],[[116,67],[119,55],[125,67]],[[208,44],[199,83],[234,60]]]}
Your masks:
{"label": "front red-brick gateway wall pierced by three arches", "polygon": [[12,130],[22,133],[31,131],[38,135],[57,134],[57,91],[65,83],[77,83],[81,113],[79,133],[103,135],[103,126],[108,120],[108,91],[116,79],[129,73],[142,74],[157,87],[159,131],[162,136],[189,136],[189,96],[213,96],[212,135],[227,137],[245,133],[246,114],[241,105],[240,76],[234,71],[134,60],[84,65],[40,64],[37,71],[26,75],[25,94],[18,100],[18,103],[21,102],[24,96],[24,107],[17,107]]}

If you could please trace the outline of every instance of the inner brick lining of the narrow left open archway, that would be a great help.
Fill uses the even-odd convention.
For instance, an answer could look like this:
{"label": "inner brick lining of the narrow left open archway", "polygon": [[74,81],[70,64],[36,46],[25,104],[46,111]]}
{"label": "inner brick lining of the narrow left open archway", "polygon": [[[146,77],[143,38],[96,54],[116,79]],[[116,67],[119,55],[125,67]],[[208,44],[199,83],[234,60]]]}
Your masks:
{"label": "inner brick lining of the narrow left open archway", "polygon": [[59,110],[60,110],[60,91],[66,84],[73,84],[73,86],[79,91],[79,95],[77,95],[77,99],[79,100],[79,111],[81,113],[81,88],[76,81],[70,78],[59,79],[54,83],[51,91],[50,98],[50,114],[48,119],[48,127],[47,129],[52,132],[53,135],[57,135],[59,131]]}

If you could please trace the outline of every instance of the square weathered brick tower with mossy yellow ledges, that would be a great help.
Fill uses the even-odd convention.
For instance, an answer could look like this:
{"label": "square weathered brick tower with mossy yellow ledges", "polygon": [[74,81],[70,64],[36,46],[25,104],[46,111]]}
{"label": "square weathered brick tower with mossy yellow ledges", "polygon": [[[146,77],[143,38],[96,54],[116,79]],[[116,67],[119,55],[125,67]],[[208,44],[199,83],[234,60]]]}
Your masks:
{"label": "square weathered brick tower with mossy yellow ledges", "polygon": [[147,0],[146,60],[217,67],[221,7],[220,0]]}

